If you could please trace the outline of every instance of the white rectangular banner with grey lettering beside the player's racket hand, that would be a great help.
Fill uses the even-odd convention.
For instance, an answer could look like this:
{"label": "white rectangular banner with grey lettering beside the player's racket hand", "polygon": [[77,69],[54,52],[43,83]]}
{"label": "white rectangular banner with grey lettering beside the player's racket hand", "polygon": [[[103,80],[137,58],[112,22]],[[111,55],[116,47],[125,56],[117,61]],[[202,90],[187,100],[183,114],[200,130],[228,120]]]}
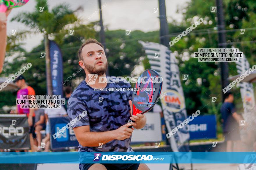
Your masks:
{"label": "white rectangular banner with grey lettering beside the player's racket hand", "polygon": [[142,129],[134,129],[132,142],[159,142],[162,140],[161,117],[159,113],[147,113],[147,123]]}

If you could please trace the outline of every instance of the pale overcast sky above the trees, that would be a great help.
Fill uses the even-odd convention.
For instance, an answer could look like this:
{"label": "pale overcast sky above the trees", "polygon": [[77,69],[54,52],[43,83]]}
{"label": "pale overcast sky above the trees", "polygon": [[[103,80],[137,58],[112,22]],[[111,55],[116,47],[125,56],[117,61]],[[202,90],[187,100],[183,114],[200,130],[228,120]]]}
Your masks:
{"label": "pale overcast sky above the trees", "polygon": [[[184,7],[188,1],[190,0],[166,0],[167,18],[172,17],[180,21],[182,16],[177,14],[176,10]],[[85,23],[99,20],[97,0],[48,0],[50,9],[60,3],[67,3],[72,9],[82,6],[83,12],[80,12],[78,17]],[[159,12],[153,13],[154,8],[159,8],[158,0],[102,0],[102,6],[104,5],[103,24],[108,25],[109,30],[142,30],[144,32],[159,30]],[[30,0],[26,5],[13,9],[8,17],[7,34],[9,35],[11,30],[28,30],[21,23],[10,22],[10,19],[19,12],[31,12],[34,8],[35,0]],[[24,41],[26,44],[24,48],[30,51],[39,45],[42,39],[41,34],[29,36]]]}

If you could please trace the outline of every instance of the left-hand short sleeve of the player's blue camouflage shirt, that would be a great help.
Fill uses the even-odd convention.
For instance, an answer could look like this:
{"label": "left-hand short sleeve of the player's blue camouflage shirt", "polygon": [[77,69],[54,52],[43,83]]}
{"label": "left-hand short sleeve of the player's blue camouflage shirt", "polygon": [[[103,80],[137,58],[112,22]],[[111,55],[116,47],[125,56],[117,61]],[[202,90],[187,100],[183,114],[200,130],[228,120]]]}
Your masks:
{"label": "left-hand short sleeve of the player's blue camouflage shirt", "polygon": [[[69,116],[72,128],[90,125],[88,109],[80,98],[69,98],[67,105],[67,114]],[[72,120],[73,122],[71,122]]]}

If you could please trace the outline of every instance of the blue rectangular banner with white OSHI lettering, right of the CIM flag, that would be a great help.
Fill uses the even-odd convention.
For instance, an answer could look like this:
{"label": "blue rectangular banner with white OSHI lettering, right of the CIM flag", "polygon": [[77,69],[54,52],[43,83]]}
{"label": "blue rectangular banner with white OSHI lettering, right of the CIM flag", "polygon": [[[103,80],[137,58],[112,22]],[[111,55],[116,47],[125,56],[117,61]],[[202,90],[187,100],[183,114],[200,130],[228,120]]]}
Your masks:
{"label": "blue rectangular banner with white OSHI lettering, right of the CIM flag", "polygon": [[216,116],[197,116],[186,125],[189,130],[190,140],[216,138]]}

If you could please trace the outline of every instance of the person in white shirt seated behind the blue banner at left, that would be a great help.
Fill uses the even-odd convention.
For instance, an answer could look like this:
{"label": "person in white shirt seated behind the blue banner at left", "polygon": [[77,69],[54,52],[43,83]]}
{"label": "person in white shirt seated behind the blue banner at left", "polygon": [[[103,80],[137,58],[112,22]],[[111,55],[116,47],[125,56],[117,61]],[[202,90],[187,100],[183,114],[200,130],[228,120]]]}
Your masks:
{"label": "person in white shirt seated behind the blue banner at left", "polygon": [[45,143],[45,152],[49,152],[50,149],[50,131],[49,131],[49,118],[66,116],[67,111],[63,106],[61,108],[47,108],[45,109],[45,121],[46,121],[46,137],[42,140]]}

